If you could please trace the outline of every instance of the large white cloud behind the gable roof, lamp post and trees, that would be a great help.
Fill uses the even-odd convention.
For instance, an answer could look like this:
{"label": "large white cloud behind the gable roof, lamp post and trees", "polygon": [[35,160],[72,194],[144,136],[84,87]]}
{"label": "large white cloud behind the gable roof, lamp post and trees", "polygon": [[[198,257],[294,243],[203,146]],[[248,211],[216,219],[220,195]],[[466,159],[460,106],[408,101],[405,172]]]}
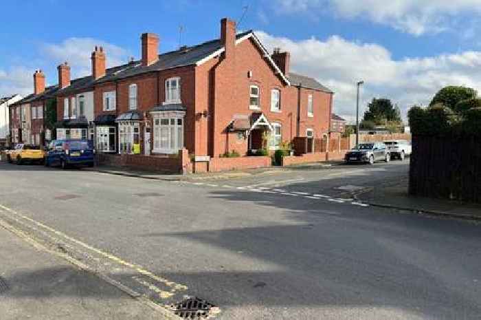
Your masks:
{"label": "large white cloud behind the gable roof, lamp post and trees", "polygon": [[291,70],[316,78],[335,92],[335,112],[355,116],[355,83],[366,81],[363,108],[373,97],[398,103],[403,115],[415,104],[427,104],[445,85],[466,85],[481,89],[481,52],[463,52],[427,58],[394,60],[388,50],[372,43],[346,41],[331,36],[302,41],[256,32],[272,50],[291,52]]}

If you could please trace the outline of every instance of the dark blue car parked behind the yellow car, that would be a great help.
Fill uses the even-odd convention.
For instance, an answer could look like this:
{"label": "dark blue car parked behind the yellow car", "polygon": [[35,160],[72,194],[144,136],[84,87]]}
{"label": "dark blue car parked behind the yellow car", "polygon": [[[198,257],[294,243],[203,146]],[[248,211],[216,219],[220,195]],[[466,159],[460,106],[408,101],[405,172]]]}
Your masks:
{"label": "dark blue car parked behind the yellow car", "polygon": [[45,154],[45,167],[93,167],[94,161],[95,150],[92,142],[87,140],[53,140]]}

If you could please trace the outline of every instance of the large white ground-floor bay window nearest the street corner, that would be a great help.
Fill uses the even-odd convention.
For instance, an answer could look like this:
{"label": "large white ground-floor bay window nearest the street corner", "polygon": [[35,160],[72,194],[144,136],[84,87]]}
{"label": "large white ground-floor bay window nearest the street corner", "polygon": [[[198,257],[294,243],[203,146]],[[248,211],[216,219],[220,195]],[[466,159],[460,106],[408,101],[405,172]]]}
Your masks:
{"label": "large white ground-floor bay window nearest the street corner", "polygon": [[[163,111],[153,113],[153,153],[178,153],[179,150],[185,146],[183,138],[185,131],[185,116],[186,113],[184,111]],[[166,120],[167,124],[161,123]],[[180,125],[179,122],[181,122]],[[164,142],[167,142],[166,145],[162,145],[163,132],[166,134],[166,138],[164,138]]]}

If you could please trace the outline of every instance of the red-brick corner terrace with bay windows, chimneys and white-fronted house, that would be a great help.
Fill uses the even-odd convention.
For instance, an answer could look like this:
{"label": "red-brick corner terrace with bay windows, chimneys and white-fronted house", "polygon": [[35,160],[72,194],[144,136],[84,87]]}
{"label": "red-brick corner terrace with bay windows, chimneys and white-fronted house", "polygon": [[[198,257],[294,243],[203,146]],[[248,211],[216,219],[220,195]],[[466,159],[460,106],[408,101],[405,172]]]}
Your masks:
{"label": "red-brick corner terrace with bay windows, chimneys and white-fronted house", "polygon": [[88,138],[98,153],[138,157],[186,149],[196,171],[211,171],[226,153],[328,135],[333,92],[291,72],[289,52],[269,54],[254,32],[237,34],[234,21],[221,20],[220,39],[163,54],[159,43],[142,34],[142,58],[111,68],[96,47],[91,75],[74,80],[69,65],[59,65],[57,138]]}

